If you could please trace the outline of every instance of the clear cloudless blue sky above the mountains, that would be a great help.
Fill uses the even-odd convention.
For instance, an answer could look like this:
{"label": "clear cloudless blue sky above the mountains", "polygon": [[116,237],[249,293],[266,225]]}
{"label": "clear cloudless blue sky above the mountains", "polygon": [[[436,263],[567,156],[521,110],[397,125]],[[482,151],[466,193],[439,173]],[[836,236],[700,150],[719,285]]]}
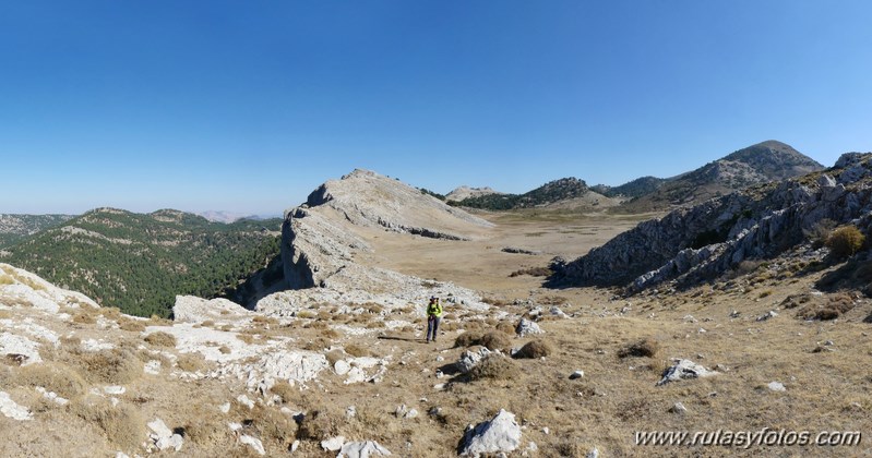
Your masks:
{"label": "clear cloudless blue sky above the mountains", "polygon": [[872,150],[872,2],[3,1],[0,213],[279,214]]}

